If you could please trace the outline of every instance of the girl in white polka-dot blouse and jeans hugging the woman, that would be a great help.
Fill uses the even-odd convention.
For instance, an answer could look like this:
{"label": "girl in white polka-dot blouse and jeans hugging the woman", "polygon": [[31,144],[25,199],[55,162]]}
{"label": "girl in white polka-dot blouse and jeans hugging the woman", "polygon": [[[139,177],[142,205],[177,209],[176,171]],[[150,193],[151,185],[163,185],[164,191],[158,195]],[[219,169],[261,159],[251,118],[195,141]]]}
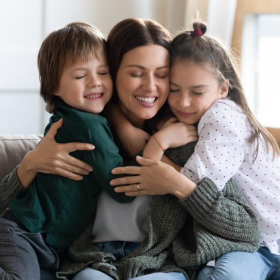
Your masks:
{"label": "girl in white polka-dot blouse and jeans hugging the woman", "polygon": [[[210,178],[220,191],[233,176],[258,215],[258,252],[231,252],[205,267],[198,280],[280,279],[279,147],[253,116],[234,59],[206,26],[179,33],[172,41],[168,103],[179,122],[198,123],[195,151],[181,173],[198,183]],[[174,133],[165,125],[148,143],[163,154]]]}

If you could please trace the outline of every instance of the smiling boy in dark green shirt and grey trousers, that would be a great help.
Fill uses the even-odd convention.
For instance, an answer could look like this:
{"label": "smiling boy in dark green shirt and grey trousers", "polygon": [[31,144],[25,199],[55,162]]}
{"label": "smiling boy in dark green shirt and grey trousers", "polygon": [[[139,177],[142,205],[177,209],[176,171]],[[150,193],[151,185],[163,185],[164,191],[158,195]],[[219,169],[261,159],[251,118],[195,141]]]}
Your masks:
{"label": "smiling boy in dark green shirt and grey trousers", "polygon": [[[81,181],[39,173],[30,187],[14,197],[0,219],[1,270],[20,279],[40,279],[40,268],[56,270],[53,249],[64,250],[84,228],[104,189],[118,202],[134,197],[114,192],[112,168],[123,160],[113,142],[107,120],[98,115],[112,96],[106,41],[86,23],[71,23],[52,32],[38,54],[41,95],[53,113],[50,126],[63,118],[56,141],[93,143],[93,151],[73,157],[93,167]],[[2,259],[3,258],[3,259]],[[1,277],[0,277],[1,278]],[[18,279],[18,278],[16,278]]]}

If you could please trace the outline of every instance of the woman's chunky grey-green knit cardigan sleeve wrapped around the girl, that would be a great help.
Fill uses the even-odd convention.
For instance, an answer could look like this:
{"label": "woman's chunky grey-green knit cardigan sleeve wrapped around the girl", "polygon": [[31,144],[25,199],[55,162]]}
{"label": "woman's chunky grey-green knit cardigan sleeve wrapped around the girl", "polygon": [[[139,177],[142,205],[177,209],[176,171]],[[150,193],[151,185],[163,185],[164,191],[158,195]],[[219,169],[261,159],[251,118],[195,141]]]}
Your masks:
{"label": "woman's chunky grey-green knit cardigan sleeve wrapped around the girl", "polygon": [[209,231],[240,242],[259,244],[257,215],[230,179],[222,192],[205,178],[196,190],[180,201],[193,218]]}

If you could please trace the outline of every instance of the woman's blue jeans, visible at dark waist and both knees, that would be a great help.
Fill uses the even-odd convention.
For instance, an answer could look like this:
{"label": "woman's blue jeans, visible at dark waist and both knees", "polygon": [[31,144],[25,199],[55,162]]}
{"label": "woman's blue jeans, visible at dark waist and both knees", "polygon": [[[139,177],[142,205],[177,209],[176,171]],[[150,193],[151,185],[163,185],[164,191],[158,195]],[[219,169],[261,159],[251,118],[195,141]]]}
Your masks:
{"label": "woman's blue jeans, visible at dark waist and both knees", "polygon": [[[137,242],[125,242],[125,241],[112,241],[112,242],[99,242],[94,243],[102,252],[112,253],[116,261],[121,260],[123,257],[129,255],[141,243]],[[151,273],[148,275],[133,278],[135,280],[186,280],[183,273],[169,272],[169,273]],[[76,274],[72,280],[113,280],[112,277],[107,274],[95,270],[93,268],[85,268]]]}

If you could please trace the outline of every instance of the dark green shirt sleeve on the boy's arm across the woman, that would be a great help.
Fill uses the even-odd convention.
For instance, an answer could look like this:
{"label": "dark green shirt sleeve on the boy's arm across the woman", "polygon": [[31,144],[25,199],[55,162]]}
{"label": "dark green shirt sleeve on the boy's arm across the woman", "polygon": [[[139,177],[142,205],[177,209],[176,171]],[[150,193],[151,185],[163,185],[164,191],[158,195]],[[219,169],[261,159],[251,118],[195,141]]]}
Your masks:
{"label": "dark green shirt sleeve on the boy's arm across the woman", "polygon": [[[116,193],[110,185],[113,178],[127,175],[113,175],[112,169],[124,165],[123,158],[113,141],[112,132],[108,121],[100,117],[98,121],[91,122],[81,134],[80,141],[95,145],[93,151],[82,151],[83,160],[93,168],[93,175],[98,184],[114,200],[120,203],[132,201],[135,196],[126,196],[124,193]],[[132,163],[133,164],[133,163]],[[134,165],[137,162],[134,161]]]}

